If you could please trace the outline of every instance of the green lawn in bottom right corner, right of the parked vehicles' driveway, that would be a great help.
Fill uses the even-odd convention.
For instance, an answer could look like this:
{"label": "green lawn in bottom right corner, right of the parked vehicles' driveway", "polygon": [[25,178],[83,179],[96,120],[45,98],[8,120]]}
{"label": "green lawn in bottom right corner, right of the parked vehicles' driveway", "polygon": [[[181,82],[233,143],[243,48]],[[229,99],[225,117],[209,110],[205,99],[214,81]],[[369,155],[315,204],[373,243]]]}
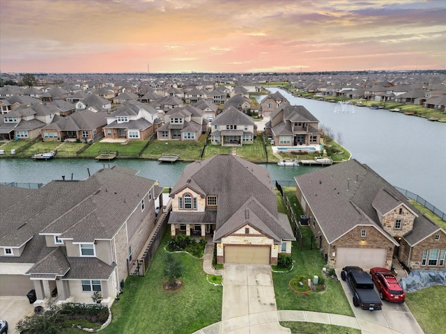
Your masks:
{"label": "green lawn in bottom right corner, right of the parked vehicles' driveway", "polygon": [[406,294],[406,305],[425,334],[445,333],[445,301],[446,286],[444,285],[427,287]]}

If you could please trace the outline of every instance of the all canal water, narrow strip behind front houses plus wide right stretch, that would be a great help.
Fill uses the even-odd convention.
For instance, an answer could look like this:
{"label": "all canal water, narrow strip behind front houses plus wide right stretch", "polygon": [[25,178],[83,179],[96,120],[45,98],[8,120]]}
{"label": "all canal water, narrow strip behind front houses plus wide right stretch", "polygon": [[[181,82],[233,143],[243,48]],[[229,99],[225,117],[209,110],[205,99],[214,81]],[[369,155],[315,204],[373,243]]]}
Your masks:
{"label": "all canal water, narrow strip behind front houses plus wide right stretch", "polygon": [[[272,92],[279,89],[271,88]],[[334,139],[369,165],[387,182],[407,189],[446,212],[446,124],[424,118],[392,113],[384,109],[341,106],[336,103],[293,97],[279,90],[291,104],[305,106],[320,125],[330,127]],[[256,97],[261,100],[264,96]],[[102,167],[121,166],[139,170],[139,175],[173,186],[187,165],[184,162],[161,164],[141,159],[116,159],[110,164],[92,159],[0,159],[0,182],[84,180]],[[293,184],[294,177],[321,167],[282,167],[263,164],[272,180]]]}

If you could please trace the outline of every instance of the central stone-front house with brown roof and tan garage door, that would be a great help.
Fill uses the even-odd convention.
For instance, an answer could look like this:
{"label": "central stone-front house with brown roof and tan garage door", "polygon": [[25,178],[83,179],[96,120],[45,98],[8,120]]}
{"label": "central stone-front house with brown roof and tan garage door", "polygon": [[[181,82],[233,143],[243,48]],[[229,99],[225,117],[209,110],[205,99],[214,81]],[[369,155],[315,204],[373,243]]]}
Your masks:
{"label": "central stone-front house with brown roof and tan garage door", "polygon": [[266,168],[233,155],[192,162],[170,195],[171,236],[213,235],[218,263],[277,264],[295,240]]}

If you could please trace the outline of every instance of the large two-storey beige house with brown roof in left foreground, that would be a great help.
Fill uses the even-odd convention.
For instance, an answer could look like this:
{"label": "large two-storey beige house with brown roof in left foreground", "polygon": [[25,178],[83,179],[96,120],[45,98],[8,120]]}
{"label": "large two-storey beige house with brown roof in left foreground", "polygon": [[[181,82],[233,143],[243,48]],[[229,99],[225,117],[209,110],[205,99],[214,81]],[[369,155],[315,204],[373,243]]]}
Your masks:
{"label": "large two-storey beige house with brown roof in left foreground", "polygon": [[[83,181],[52,181],[0,214],[0,296],[36,291],[34,305],[112,305],[155,227],[154,180],[120,166]],[[1,197],[14,189],[0,188]]]}

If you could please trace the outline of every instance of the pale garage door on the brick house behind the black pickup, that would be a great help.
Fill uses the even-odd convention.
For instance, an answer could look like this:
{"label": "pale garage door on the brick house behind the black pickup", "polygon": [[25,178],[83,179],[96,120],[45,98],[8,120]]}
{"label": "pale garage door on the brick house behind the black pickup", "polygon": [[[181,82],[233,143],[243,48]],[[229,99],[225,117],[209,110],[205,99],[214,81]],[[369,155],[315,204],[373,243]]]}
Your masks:
{"label": "pale garage door on the brick house behind the black pickup", "polygon": [[385,267],[385,248],[337,248],[336,267]]}

